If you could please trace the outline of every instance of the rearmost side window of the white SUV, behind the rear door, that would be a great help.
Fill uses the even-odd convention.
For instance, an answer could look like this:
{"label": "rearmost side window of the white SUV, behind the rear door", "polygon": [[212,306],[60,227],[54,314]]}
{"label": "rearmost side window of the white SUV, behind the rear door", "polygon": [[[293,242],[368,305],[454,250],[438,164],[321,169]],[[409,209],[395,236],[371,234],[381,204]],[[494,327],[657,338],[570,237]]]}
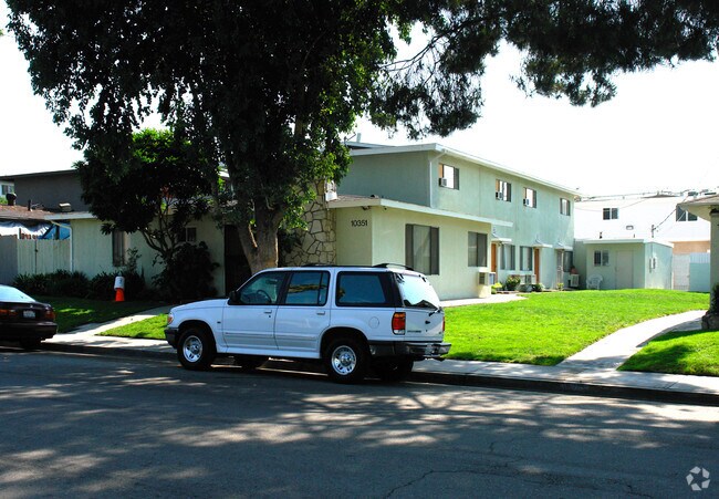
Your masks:
{"label": "rearmost side window of the white SUV, behind the rear door", "polygon": [[387,272],[340,272],[337,306],[393,306]]}

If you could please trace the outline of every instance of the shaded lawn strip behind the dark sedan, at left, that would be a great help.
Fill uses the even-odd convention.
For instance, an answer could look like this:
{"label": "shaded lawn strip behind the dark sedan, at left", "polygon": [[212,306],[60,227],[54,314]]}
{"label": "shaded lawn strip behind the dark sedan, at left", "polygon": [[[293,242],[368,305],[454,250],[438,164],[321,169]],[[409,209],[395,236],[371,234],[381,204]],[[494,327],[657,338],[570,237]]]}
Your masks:
{"label": "shaded lawn strip behind the dark sedan, at left", "polygon": [[147,301],[113,302],[59,297],[35,297],[35,299],[50,303],[55,309],[58,332],[60,333],[66,333],[83,324],[101,324],[137,312],[144,312],[161,304]]}

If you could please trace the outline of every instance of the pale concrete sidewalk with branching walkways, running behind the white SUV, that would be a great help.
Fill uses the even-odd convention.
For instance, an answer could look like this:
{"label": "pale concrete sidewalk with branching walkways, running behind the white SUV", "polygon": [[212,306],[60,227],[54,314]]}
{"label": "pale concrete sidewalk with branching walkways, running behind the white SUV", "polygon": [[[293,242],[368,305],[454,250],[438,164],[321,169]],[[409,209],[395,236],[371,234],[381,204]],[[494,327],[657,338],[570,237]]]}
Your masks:
{"label": "pale concrete sidewalk with branching walkways, running behind the white SUV", "polygon": [[[510,297],[501,297],[497,302],[521,299]],[[457,306],[472,302],[468,300],[445,304]],[[481,303],[489,303],[489,301],[484,299]],[[48,350],[64,352],[175,360],[175,350],[165,341],[97,336],[102,331],[167,311],[168,308],[161,308],[107,324],[88,324],[71,333],[58,334],[52,340],[45,341],[43,345]],[[700,329],[700,318],[704,313],[704,311],[691,311],[619,330],[555,366],[477,361],[425,361],[415,364],[410,380],[719,406],[718,377],[616,371],[616,367],[654,336],[671,330]],[[267,366],[296,371],[316,368],[308,366],[306,363],[291,362],[270,362]]]}

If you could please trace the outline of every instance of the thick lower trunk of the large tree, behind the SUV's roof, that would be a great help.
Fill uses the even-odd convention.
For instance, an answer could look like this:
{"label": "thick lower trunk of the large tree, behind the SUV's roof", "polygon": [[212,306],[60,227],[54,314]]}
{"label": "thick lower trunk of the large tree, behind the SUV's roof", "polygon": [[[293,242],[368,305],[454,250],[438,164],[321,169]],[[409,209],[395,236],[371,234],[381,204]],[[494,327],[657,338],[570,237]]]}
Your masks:
{"label": "thick lower trunk of the large tree, behind the SUV's roof", "polygon": [[278,266],[278,230],[283,218],[279,210],[268,209],[259,202],[254,206],[254,226],[247,223],[238,227],[242,251],[252,274]]}

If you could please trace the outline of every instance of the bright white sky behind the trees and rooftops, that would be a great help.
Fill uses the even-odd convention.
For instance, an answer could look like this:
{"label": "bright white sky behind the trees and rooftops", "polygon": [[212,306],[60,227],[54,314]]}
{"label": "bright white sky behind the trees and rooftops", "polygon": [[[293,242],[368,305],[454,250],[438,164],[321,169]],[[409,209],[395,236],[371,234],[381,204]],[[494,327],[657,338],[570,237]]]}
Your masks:
{"label": "bright white sky behind the trees and rooftops", "polygon": [[[6,24],[7,6],[0,3]],[[0,175],[67,169],[81,159],[32,94],[28,64],[0,37]],[[510,82],[519,59],[489,63],[482,117],[470,129],[421,141],[472,154],[584,195],[715,189],[719,186],[719,62],[685,63],[615,79],[617,96],[598,107],[525,97]],[[362,142],[408,144],[402,133],[361,123]]]}

